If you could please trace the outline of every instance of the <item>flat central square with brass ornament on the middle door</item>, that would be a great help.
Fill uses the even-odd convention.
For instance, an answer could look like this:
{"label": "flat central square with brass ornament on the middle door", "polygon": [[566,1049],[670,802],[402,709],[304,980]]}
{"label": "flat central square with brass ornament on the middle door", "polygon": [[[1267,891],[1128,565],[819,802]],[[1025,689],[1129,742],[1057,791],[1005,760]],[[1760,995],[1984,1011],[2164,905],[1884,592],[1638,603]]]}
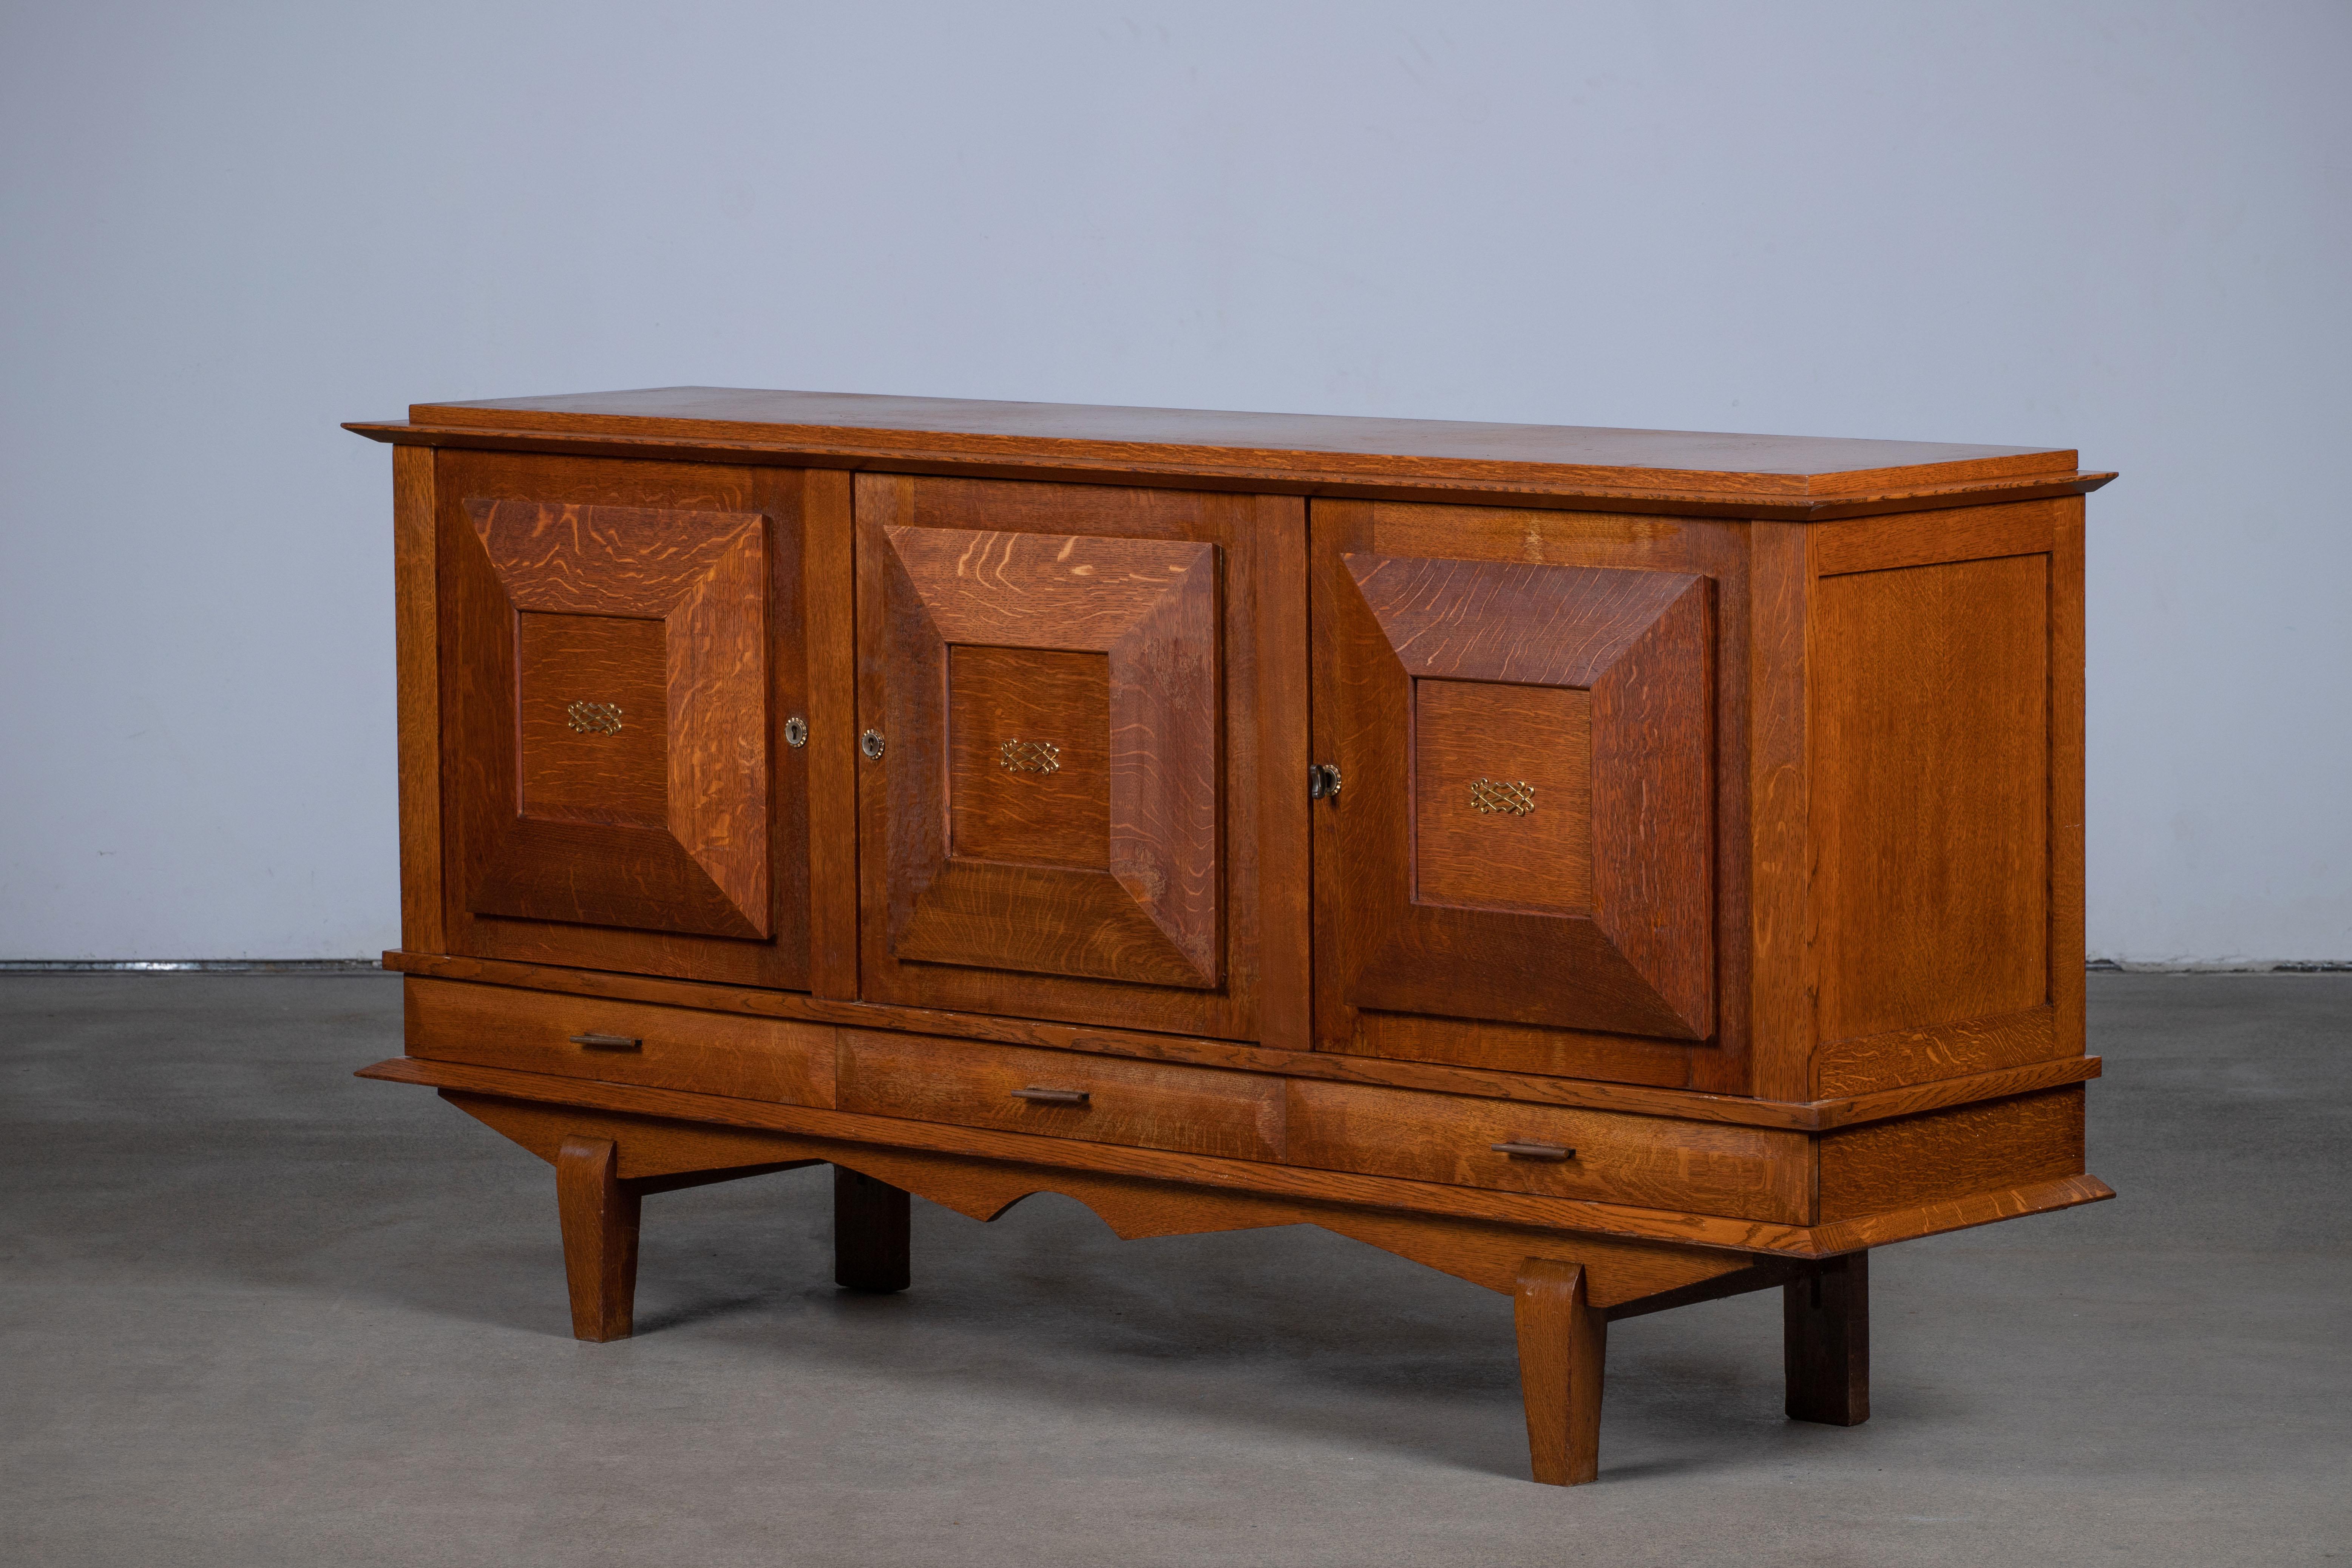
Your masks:
{"label": "flat central square with brass ornament on the middle door", "polygon": [[1110,656],[948,649],[950,853],[1110,870]]}

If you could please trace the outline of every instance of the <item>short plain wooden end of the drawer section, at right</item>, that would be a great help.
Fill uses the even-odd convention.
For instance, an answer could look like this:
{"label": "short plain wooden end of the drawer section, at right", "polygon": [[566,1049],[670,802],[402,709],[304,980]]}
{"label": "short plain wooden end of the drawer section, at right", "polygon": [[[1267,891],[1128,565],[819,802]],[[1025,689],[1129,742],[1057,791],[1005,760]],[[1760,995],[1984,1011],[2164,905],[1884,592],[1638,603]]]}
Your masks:
{"label": "short plain wooden end of the drawer section, at right", "polygon": [[1865,1220],[2084,1173],[2082,1086],[1820,1138],[1820,1222]]}

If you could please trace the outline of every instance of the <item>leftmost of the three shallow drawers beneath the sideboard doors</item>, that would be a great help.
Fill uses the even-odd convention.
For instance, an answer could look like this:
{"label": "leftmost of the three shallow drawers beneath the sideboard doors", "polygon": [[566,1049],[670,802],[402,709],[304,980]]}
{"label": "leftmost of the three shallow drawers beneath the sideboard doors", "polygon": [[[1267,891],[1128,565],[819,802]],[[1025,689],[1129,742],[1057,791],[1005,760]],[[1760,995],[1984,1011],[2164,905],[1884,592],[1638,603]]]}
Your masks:
{"label": "leftmost of the three shallow drawers beneath the sideboard doors", "polygon": [[[597,1034],[630,1044],[579,1044]],[[741,1100],[833,1105],[833,1025],[560,992],[407,983],[407,1051],[437,1063],[560,1072]]]}

